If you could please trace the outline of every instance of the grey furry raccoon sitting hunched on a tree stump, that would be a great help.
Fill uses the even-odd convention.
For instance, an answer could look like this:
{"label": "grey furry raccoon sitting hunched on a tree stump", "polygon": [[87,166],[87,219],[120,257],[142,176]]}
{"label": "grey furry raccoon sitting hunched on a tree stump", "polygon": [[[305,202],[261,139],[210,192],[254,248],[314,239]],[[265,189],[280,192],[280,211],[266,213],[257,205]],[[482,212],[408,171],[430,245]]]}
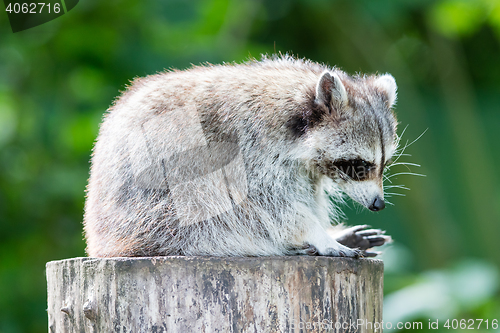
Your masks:
{"label": "grey furry raccoon sitting hunched on a tree stump", "polygon": [[135,79],[94,146],[88,255],[376,255],[384,232],[332,222],[344,193],[385,207],[396,90],[290,56]]}

